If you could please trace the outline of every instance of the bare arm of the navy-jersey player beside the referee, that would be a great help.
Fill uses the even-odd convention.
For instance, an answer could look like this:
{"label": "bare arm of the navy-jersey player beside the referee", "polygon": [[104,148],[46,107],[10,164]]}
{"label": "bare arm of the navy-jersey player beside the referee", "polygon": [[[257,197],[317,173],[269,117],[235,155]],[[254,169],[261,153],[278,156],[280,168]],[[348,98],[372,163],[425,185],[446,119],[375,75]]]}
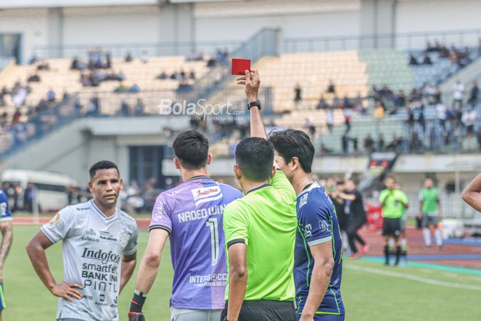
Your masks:
{"label": "bare arm of the navy-jersey player beside the referee", "polygon": [[313,245],[309,248],[314,258],[314,267],[309,294],[300,321],[313,320],[315,311],[319,309],[324,299],[334,268],[332,241]]}

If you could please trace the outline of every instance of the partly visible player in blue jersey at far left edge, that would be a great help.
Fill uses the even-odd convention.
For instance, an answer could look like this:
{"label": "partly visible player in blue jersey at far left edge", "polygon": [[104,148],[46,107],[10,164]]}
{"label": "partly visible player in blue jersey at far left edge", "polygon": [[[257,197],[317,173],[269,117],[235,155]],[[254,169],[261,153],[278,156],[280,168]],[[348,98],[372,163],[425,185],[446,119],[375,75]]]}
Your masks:
{"label": "partly visible player in blue jersey at far left edge", "polygon": [[1,311],[6,308],[5,298],[3,296],[3,265],[7,258],[8,251],[12,245],[13,228],[12,228],[12,211],[8,206],[8,198],[5,192],[0,190],[0,230],[2,234],[0,246],[0,321]]}

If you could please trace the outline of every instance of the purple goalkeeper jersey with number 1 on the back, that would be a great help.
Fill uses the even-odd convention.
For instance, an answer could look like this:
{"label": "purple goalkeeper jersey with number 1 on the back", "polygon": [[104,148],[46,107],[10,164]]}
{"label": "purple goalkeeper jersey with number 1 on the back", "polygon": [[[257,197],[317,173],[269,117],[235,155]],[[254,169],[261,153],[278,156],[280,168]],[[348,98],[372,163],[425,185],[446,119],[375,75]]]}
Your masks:
{"label": "purple goalkeeper jersey with number 1 on the back", "polygon": [[222,217],[225,206],[242,196],[232,186],[197,176],[157,197],[150,230],[169,232],[174,268],[170,306],[223,309],[227,266]]}

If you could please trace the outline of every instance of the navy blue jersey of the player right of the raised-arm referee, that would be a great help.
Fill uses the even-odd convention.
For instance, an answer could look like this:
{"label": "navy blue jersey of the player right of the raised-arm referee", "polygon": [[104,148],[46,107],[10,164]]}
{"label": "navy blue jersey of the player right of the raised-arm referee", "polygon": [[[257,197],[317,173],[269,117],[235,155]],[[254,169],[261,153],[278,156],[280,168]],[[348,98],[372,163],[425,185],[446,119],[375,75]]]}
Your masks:
{"label": "navy blue jersey of the player right of the raised-arm referee", "polygon": [[324,300],[316,314],[344,315],[341,298],[342,239],[333,202],[326,190],[313,183],[298,195],[298,230],[295,236],[294,280],[296,312],[306,304],[314,267],[310,247],[333,243],[334,269]]}

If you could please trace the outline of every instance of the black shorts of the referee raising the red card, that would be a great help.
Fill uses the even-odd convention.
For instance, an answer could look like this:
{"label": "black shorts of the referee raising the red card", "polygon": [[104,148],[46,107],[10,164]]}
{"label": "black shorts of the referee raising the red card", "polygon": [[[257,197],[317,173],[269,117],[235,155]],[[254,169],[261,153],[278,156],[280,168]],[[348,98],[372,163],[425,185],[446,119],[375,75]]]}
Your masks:
{"label": "black shorts of the referee raising the red card", "polygon": [[[221,320],[227,317],[227,305],[225,302]],[[244,301],[238,321],[296,321],[294,304],[273,300]]]}

